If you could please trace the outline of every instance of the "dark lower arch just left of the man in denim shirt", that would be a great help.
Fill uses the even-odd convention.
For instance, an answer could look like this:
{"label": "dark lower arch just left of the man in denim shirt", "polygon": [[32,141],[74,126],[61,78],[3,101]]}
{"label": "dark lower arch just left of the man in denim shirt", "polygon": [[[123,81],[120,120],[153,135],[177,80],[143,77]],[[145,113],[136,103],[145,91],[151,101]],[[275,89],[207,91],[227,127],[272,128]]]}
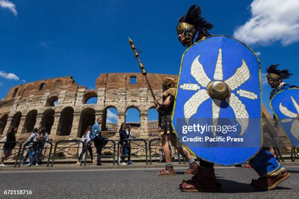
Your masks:
{"label": "dark lower arch just left of the man in denim shirt", "polygon": [[95,123],[95,113],[96,111],[91,107],[87,107],[81,111],[77,137],[82,138],[87,127]]}

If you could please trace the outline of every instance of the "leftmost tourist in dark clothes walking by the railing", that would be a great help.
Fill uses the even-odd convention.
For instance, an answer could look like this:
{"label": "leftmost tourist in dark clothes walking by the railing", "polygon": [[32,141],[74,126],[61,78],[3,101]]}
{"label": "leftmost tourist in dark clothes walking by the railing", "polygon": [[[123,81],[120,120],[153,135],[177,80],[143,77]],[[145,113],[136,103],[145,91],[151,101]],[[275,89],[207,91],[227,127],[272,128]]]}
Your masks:
{"label": "leftmost tourist in dark clothes walking by the railing", "polygon": [[[9,142],[9,141],[16,141],[16,133],[17,133],[17,131],[18,131],[18,128],[11,127],[10,132],[7,133],[6,141],[7,142]],[[12,150],[15,148],[15,146],[16,146],[16,143],[5,143],[3,145],[4,156],[1,158],[0,167],[6,167],[4,165],[4,159],[6,159],[7,157],[11,156]]]}

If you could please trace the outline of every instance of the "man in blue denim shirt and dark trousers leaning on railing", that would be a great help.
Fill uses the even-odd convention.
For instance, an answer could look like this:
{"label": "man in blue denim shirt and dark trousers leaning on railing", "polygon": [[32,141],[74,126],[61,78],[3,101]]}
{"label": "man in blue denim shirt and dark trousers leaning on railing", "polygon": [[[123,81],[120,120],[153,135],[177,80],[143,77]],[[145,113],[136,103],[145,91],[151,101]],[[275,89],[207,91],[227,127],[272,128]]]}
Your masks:
{"label": "man in blue denim shirt and dark trousers leaning on railing", "polygon": [[92,126],[91,138],[94,141],[94,146],[97,149],[97,165],[101,164],[101,154],[103,147],[107,144],[108,139],[102,136],[102,131],[100,124],[102,123],[102,118],[97,118],[97,122]]}

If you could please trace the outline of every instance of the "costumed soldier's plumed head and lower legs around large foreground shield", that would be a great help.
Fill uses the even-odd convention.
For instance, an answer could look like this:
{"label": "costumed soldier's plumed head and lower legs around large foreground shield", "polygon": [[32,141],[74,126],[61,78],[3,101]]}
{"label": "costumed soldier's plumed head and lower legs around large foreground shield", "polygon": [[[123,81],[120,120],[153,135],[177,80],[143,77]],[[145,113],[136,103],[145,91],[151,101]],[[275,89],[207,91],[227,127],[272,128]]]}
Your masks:
{"label": "costumed soldier's plumed head and lower legs around large foreground shield", "polygon": [[[176,27],[179,41],[190,47],[199,40],[211,36],[209,30],[213,24],[201,16],[199,6],[192,5],[188,13],[179,19]],[[280,182],[287,179],[290,174],[279,165],[271,152],[261,149],[256,156],[250,160],[251,165],[260,176],[253,179],[251,185],[256,189],[271,190]],[[214,173],[214,163],[200,159],[196,174],[190,180],[183,180],[180,184],[185,192],[217,192],[221,190],[221,184],[217,181]]]}

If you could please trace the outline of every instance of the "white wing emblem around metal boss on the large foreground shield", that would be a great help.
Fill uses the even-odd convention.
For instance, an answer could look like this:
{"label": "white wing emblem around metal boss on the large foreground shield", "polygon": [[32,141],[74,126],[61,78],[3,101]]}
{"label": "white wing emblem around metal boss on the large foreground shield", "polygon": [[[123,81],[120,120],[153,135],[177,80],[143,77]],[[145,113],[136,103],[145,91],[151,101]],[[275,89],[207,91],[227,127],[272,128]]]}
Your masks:
{"label": "white wing emblem around metal boss on the large foreground shield", "polygon": [[[191,75],[197,80],[197,82],[202,87],[207,87],[211,82],[211,79],[207,76],[204,71],[203,65],[199,62],[200,55],[197,56],[191,66]],[[246,62],[242,59],[242,65],[237,68],[235,74],[224,82],[230,87],[231,90],[235,90],[245,81],[250,78],[249,68]],[[219,49],[219,54],[216,62],[215,72],[214,72],[214,80],[223,80],[223,71],[222,71],[222,50]],[[205,101],[210,98],[206,89],[200,89],[197,91],[189,100],[186,101],[184,105],[184,117],[189,124],[189,119],[197,113],[198,107]],[[246,110],[245,105],[241,100],[234,94],[231,93],[230,97],[225,99],[230,107],[233,109],[235,113],[235,118],[238,123],[241,125],[241,133],[243,135],[246,131],[249,123],[249,115]],[[212,115],[213,115],[213,125],[217,125],[218,117],[220,114],[220,104],[221,100],[212,100]],[[215,132],[214,132],[215,136]]]}

